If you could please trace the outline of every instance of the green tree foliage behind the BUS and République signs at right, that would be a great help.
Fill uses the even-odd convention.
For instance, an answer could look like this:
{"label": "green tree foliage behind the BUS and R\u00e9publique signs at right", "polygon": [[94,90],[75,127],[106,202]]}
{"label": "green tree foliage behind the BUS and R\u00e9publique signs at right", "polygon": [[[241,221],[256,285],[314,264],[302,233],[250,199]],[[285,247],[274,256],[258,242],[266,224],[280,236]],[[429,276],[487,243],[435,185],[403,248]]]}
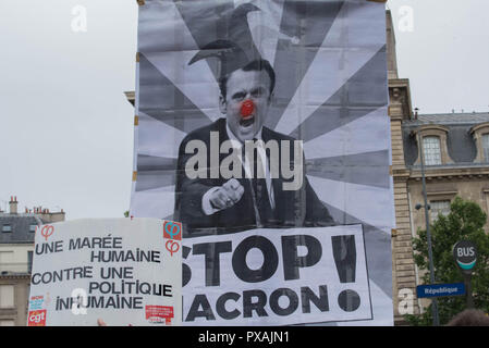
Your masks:
{"label": "green tree foliage behind the BUS and R\u00e9publique signs at right", "polygon": [[[453,259],[453,247],[460,240],[470,240],[477,246],[477,263],[472,276],[474,306],[489,312],[489,236],[484,231],[487,215],[475,202],[455,197],[450,213],[438,215],[430,224],[435,281],[437,284],[463,283],[464,276]],[[413,239],[414,260],[421,271],[423,284],[430,284],[428,243],[426,229],[418,229]],[[406,315],[413,325],[431,325],[431,306],[419,315]],[[466,309],[465,296],[438,297],[440,325],[447,324],[456,313]]]}

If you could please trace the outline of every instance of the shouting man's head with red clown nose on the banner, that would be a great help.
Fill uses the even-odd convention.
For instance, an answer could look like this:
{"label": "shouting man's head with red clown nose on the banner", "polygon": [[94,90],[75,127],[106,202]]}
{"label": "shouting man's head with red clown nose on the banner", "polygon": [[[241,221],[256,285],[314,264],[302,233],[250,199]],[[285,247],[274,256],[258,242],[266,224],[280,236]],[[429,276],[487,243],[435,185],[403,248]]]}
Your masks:
{"label": "shouting man's head with red clown nose on the banner", "polygon": [[[261,129],[271,103],[276,74],[266,60],[256,60],[220,80],[220,111],[241,141],[250,140]],[[243,103],[247,103],[243,112]]]}

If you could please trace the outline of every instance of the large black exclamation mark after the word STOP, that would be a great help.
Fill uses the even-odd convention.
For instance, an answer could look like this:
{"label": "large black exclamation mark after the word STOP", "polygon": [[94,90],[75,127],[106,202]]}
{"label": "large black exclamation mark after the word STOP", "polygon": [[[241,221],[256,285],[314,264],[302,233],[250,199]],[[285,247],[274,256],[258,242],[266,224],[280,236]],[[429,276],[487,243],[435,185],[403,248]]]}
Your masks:
{"label": "large black exclamation mark after the word STOP", "polygon": [[[356,247],[355,236],[331,237],[333,258],[341,283],[355,283]],[[346,289],[338,296],[338,304],[345,312],[353,312],[360,306],[360,297],[355,290]]]}

